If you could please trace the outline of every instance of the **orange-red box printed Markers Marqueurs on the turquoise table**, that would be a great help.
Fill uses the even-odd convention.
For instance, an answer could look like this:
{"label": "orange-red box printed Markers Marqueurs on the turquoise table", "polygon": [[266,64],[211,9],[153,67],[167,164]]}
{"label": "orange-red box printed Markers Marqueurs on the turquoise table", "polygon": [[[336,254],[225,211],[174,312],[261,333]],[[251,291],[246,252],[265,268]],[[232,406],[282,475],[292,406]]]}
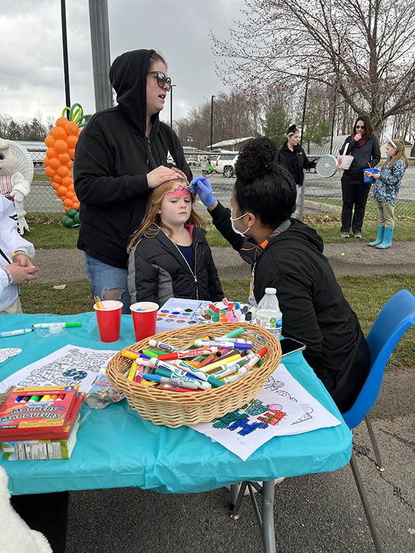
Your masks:
{"label": "orange-red box printed Markers Marqueurs on the turquoise table", "polygon": [[0,407],[0,441],[56,434],[64,437],[79,386],[14,388]]}

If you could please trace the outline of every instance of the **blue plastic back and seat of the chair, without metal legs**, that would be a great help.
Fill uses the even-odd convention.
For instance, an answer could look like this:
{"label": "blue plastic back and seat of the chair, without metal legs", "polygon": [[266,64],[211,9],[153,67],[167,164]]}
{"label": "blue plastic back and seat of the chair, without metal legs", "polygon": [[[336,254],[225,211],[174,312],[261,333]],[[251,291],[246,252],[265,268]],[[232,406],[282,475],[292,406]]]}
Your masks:
{"label": "blue plastic back and seat of the chair, without metal legs", "polygon": [[350,429],[356,428],[376,402],[385,366],[398,341],[415,324],[415,297],[400,290],[389,299],[369,330],[367,343],[371,353],[371,368],[353,406],[342,413]]}

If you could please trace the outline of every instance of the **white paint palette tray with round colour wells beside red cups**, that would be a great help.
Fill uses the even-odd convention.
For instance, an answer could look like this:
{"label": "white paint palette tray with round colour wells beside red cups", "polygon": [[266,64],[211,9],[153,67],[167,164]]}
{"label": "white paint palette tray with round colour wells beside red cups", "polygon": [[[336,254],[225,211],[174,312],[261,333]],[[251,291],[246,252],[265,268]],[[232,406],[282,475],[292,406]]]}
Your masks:
{"label": "white paint palette tray with round colour wells beside red cups", "polygon": [[157,312],[156,334],[199,324],[201,320],[195,317],[195,312],[209,303],[199,299],[168,299]]}

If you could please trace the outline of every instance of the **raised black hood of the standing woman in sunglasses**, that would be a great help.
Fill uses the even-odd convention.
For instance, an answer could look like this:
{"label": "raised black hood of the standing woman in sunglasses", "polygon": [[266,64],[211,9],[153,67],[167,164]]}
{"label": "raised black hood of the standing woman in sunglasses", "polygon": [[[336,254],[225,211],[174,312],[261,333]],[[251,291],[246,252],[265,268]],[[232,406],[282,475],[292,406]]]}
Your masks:
{"label": "raised black hood of the standing woman in sunglasses", "polygon": [[[147,123],[147,71],[155,50],[131,50],[114,59],[109,79],[117,93],[120,111],[133,131],[145,135]],[[151,117],[153,128],[158,126],[158,113]]]}

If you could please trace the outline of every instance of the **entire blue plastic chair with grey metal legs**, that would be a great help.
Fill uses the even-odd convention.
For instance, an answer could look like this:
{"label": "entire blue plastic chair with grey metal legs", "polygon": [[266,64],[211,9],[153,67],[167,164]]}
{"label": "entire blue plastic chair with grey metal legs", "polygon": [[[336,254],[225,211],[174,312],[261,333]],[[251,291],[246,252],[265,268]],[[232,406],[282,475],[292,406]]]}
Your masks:
{"label": "entire blue plastic chair with grey metal legs", "polygon": [[[356,428],[360,422],[365,419],[371,444],[374,448],[376,463],[380,471],[383,471],[384,467],[380,459],[378,444],[376,443],[374,431],[367,413],[369,413],[376,402],[382,384],[383,374],[385,373],[385,366],[391,353],[408,328],[414,324],[415,297],[407,290],[400,290],[391,297],[385,307],[382,308],[378,317],[376,317],[376,321],[369,330],[369,334],[367,335],[367,343],[369,344],[371,353],[369,375],[353,406],[351,406],[347,413],[342,413],[344,421],[351,430]],[[382,545],[380,544],[380,539],[376,532],[376,526],[353,450],[351,452],[350,465],[356,480],[360,499],[362,500],[363,509],[365,510],[367,523],[369,524],[369,529],[374,540],[375,550],[377,553],[382,553]]]}

